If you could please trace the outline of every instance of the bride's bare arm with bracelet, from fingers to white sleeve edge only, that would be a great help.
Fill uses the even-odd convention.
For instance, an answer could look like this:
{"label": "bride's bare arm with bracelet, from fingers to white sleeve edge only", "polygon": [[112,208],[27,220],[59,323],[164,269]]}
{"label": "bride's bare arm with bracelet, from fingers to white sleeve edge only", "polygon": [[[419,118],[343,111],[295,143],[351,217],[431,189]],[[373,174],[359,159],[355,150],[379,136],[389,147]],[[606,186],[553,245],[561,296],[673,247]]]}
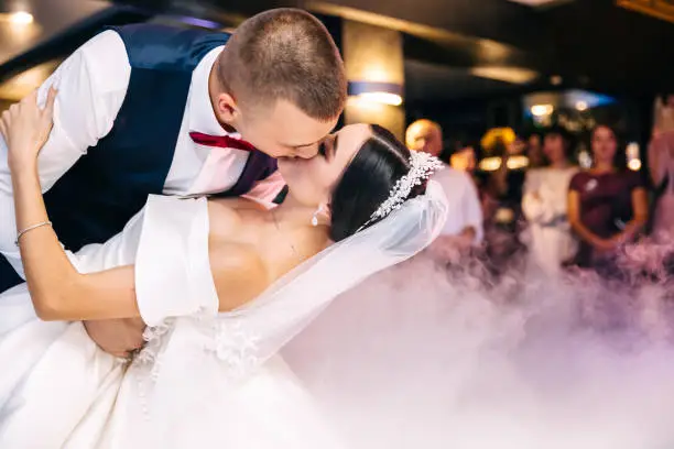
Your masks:
{"label": "bride's bare arm with bracelet, from fingers to white sleeve edge only", "polygon": [[45,320],[85,320],[138,317],[133,267],[80,274],[64,252],[48,222],[37,176],[37,154],[48,138],[55,90],[43,110],[36,92],[2,116],[0,131],[9,147],[17,232],[31,297]]}

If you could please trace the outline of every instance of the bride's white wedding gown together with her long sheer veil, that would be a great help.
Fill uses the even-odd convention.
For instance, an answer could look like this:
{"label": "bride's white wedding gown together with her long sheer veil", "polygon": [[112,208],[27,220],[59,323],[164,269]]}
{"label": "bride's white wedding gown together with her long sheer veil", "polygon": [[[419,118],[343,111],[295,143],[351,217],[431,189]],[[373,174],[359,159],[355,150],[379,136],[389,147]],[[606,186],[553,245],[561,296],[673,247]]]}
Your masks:
{"label": "bride's white wedding gown together with her long sheer veil", "polygon": [[[207,200],[150,197],[120,234],[68,254],[80,272],[135,265],[149,328],[132,363],[98,349],[80,322],[39,320],[25,285],[0,295],[0,447],[344,447],[279,351],[335,296],[427,245],[446,211],[430,183],[390,219],[218,314]],[[361,270],[346,270],[355,260]]]}

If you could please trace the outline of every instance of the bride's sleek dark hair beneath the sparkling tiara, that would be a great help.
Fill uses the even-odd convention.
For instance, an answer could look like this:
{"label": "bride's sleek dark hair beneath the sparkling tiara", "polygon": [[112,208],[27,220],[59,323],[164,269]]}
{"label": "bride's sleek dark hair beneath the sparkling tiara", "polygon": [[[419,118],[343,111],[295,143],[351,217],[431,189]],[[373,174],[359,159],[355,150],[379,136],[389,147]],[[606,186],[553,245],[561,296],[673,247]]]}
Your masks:
{"label": "bride's sleek dark hair beneath the sparkling tiara", "polygon": [[[398,179],[410,172],[410,150],[385,128],[371,124],[372,136],[360,147],[330,199],[330,239],[346,239],[387,200]],[[425,191],[425,184],[409,198]],[[368,227],[377,222],[368,223]]]}

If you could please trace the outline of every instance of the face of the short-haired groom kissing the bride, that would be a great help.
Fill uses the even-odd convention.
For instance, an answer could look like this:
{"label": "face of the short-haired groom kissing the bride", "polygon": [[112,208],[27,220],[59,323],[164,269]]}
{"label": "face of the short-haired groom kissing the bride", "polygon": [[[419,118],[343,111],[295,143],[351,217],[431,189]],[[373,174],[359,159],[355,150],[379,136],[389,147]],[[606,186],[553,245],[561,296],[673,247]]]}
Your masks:
{"label": "face of the short-haired groom kissing the bride", "polygon": [[314,157],[318,143],[336,127],[337,118],[316,120],[286,100],[272,108],[242,109],[236,128],[241,136],[272,157]]}

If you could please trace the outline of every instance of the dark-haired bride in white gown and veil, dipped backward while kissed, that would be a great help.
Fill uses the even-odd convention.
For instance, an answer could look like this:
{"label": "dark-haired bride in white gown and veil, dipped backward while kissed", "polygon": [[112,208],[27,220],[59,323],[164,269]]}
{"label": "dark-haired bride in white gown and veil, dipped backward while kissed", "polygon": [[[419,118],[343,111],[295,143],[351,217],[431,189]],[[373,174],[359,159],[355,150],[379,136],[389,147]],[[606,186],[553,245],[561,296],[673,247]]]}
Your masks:
{"label": "dark-haired bride in white gown and veil, dipped backward while kissed", "polygon": [[[439,163],[381,127],[345,127],[315,158],[279,161],[279,207],[151,196],[120,234],[74,254],[37,174],[54,97],[0,121],[26,274],[0,295],[0,447],[340,447],[278,352],[436,237],[446,202],[426,179]],[[81,324],[119,318],[148,326],[130,361]]]}

